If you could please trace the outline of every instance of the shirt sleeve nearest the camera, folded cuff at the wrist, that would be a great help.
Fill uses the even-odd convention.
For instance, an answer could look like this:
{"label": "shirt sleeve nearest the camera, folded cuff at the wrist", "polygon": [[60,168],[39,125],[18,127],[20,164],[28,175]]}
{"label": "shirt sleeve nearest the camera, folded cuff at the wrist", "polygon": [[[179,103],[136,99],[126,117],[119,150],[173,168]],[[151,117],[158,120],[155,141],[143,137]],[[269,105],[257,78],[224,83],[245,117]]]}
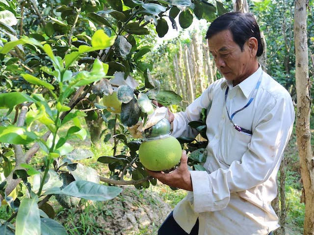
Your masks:
{"label": "shirt sleeve nearest the camera, folded cuff at the wrist", "polygon": [[257,118],[248,150],[240,161],[235,160],[229,168],[219,168],[210,174],[191,171],[195,212],[224,209],[231,193],[262,184],[277,172],[294,117],[288,92],[272,97]]}

